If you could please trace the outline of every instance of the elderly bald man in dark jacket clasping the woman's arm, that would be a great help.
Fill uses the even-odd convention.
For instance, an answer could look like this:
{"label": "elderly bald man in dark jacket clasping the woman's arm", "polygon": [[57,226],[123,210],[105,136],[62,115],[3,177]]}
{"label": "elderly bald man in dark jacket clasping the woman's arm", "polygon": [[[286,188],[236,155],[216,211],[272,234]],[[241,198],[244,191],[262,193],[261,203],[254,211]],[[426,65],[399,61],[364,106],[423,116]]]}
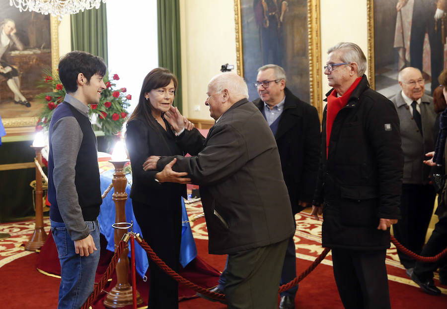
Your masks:
{"label": "elderly bald man in dark jacket clasping the woman's arm", "polygon": [[178,142],[192,157],[149,157],[144,168],[161,171],[160,183],[186,172],[200,185],[209,251],[228,254],[228,308],[277,308],[284,256],[295,225],[275,137],[247,100],[242,77],[230,72],[213,77],[207,95],[205,104],[216,124],[206,139],[197,129],[182,131],[183,117],[177,110],[169,117],[180,133]]}

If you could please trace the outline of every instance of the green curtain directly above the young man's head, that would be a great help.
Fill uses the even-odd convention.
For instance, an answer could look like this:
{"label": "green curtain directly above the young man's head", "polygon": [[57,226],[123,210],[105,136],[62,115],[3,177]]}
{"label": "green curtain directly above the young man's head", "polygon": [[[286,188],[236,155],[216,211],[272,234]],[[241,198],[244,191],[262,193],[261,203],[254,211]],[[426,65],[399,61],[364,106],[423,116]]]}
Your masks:
{"label": "green curtain directly above the young man's head", "polygon": [[72,51],[83,51],[104,59],[107,57],[106,5],[71,15]]}

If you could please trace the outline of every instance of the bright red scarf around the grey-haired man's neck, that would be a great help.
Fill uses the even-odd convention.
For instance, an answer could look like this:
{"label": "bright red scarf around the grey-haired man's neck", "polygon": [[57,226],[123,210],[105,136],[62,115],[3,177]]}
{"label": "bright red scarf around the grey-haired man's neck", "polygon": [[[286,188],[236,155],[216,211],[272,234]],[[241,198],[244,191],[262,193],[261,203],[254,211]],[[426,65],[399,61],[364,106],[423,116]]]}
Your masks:
{"label": "bright red scarf around the grey-haired man's neck", "polygon": [[349,98],[356,89],[357,85],[362,80],[362,76],[358,77],[349,89],[341,96],[337,97],[337,91],[332,90],[327,97],[327,112],[326,112],[326,159],[329,153],[329,140],[331,137],[332,124],[334,124],[335,117],[342,108],[348,104]]}

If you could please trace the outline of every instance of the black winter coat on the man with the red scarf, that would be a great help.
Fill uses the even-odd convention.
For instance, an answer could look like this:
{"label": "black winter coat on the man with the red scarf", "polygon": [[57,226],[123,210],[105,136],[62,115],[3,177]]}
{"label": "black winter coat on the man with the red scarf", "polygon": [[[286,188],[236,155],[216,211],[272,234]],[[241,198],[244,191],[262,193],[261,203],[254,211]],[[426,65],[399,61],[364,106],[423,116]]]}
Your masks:
{"label": "black winter coat on the man with the red scarf", "polygon": [[403,154],[394,105],[363,75],[334,120],[328,159],[326,113],[327,106],[314,197],[315,205],[323,203],[322,246],[388,248],[389,229],[377,226],[380,218],[400,218]]}

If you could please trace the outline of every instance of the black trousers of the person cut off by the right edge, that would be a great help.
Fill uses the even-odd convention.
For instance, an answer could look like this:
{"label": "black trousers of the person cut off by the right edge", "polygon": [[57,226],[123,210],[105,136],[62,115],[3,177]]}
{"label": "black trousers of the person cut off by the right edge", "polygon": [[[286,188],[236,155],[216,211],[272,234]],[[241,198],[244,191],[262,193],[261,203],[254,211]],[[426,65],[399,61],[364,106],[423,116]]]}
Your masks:
{"label": "black trousers of the person cut off by the right edge", "polygon": [[[435,256],[447,247],[447,217],[440,218],[430,239],[421,252],[423,256]],[[433,272],[440,268],[439,275],[447,280],[447,256],[437,262],[417,261],[414,267],[416,275],[424,282],[433,278]]]}

